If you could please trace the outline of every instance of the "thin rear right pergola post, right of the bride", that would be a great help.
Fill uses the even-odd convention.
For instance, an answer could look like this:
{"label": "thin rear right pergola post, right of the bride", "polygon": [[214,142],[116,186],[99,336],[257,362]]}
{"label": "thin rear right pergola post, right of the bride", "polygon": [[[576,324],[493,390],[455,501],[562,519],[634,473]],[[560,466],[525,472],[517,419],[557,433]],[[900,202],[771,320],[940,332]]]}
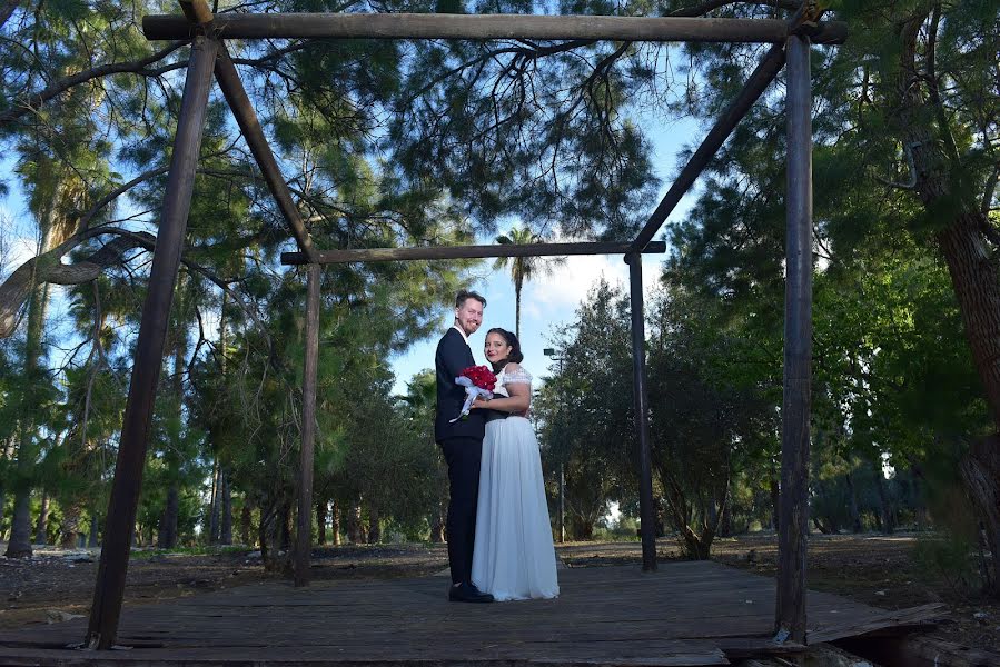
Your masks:
{"label": "thin rear right pergola post, right of the bride", "polygon": [[642,255],[626,255],[632,303],[632,387],[635,435],[638,438],[638,514],[642,520],[642,569],[656,569],[656,512],[653,508],[653,461],[650,451],[650,402],[646,397],[646,320],[643,312]]}

